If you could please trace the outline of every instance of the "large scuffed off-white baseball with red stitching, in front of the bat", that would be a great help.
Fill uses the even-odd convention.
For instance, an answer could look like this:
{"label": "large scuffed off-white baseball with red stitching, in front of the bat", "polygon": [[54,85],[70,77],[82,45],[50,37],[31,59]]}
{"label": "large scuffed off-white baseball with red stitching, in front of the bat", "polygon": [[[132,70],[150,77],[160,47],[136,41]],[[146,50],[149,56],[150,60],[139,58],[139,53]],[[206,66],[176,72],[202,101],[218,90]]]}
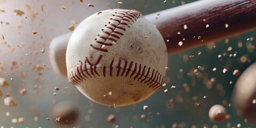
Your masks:
{"label": "large scuffed off-white baseball with red stitching, in front of the bat", "polygon": [[71,35],[66,52],[69,82],[106,106],[141,102],[161,89],[167,67],[162,35],[139,11],[92,14]]}

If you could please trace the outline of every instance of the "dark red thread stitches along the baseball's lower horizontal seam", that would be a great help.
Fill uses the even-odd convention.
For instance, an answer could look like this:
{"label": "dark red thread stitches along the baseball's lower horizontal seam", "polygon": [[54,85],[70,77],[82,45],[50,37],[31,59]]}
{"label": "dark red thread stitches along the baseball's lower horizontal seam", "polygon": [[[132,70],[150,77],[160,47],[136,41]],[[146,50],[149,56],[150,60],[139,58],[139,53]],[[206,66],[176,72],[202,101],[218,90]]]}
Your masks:
{"label": "dark red thread stitches along the baseball's lower horizontal seam", "polygon": [[[100,56],[100,57],[98,58],[98,61],[95,63],[95,65],[92,65],[92,66],[90,65],[90,64],[92,64],[90,61],[86,61],[86,62],[90,65],[90,67],[92,67],[92,68],[87,69],[87,70],[93,70],[94,73],[96,73],[97,71],[95,71],[95,70],[97,69],[97,67],[95,67],[95,66],[98,65],[98,63],[100,62],[101,58],[102,58],[102,57]],[[103,76],[104,76],[104,77],[106,77],[106,69],[107,69],[107,68],[109,68],[109,73],[112,74],[113,63],[114,63],[114,60],[111,61],[109,67],[106,67],[106,66],[100,67],[100,68],[103,68],[103,71],[102,71],[102,72],[103,72]],[[127,61],[124,62],[124,66],[123,66],[123,67],[121,67],[121,63],[122,63],[122,60],[119,60],[117,66],[116,66],[116,68],[117,68],[117,75],[116,75],[116,76],[117,76],[117,77],[120,77],[119,74],[121,73],[121,70],[122,70],[121,76],[123,76],[123,75],[125,74],[125,71],[126,71],[126,76],[127,76],[127,75],[130,73],[130,71],[132,70],[132,74],[133,74],[133,75],[136,74],[136,75],[133,77],[134,80],[139,77],[139,78],[137,79],[137,81],[138,81],[138,82],[140,81],[140,83],[142,83],[143,81],[145,81],[146,79],[148,79],[146,82],[144,82],[144,84],[147,84],[147,82],[149,82],[147,85],[148,85],[148,87],[150,87],[151,89],[153,89],[153,90],[159,90],[159,89],[162,88],[164,76],[163,76],[162,74],[158,73],[158,71],[156,71],[156,73],[155,73],[155,69],[153,69],[151,77],[148,77],[149,72],[150,72],[150,67],[147,69],[147,73],[146,73],[146,66],[144,66],[143,69],[142,69],[142,68],[141,68],[141,65],[139,65],[139,70],[138,70],[138,73],[137,73],[137,70],[136,70],[136,69],[137,69],[137,63],[135,63],[133,69],[132,69],[133,62],[130,62],[129,68],[127,68],[127,65],[128,65],[128,62],[127,62]],[[81,65],[82,65],[82,64],[83,64],[83,63],[81,62]],[[96,64],[97,64],[97,65],[96,65]],[[78,64],[78,65],[79,65],[79,64]],[[80,67],[80,70],[79,70],[79,67]],[[73,69],[70,69],[70,74],[69,74],[70,83],[72,83],[72,84],[78,84],[78,83],[82,82],[83,79],[86,80],[81,74],[83,74],[83,72],[86,72],[87,70],[83,70],[83,69],[81,69],[81,67],[82,67],[82,66],[75,67],[76,70],[74,70],[74,71],[73,71]],[[73,75],[73,73],[75,73],[75,75]],[[88,71],[87,71],[87,73],[88,73]],[[92,71],[90,71],[90,73],[92,74]],[[132,74],[131,74],[131,76],[133,76]],[[145,74],[146,74],[146,75],[145,75]],[[92,75],[94,75],[94,74],[92,74]],[[99,74],[97,74],[97,75],[100,76]],[[111,75],[111,76],[112,76],[112,75]],[[153,78],[153,77],[154,77],[154,78]],[[131,78],[131,77],[130,77],[130,78]],[[152,79],[152,78],[153,78],[153,79]],[[141,79],[141,80],[140,80],[140,79]]]}

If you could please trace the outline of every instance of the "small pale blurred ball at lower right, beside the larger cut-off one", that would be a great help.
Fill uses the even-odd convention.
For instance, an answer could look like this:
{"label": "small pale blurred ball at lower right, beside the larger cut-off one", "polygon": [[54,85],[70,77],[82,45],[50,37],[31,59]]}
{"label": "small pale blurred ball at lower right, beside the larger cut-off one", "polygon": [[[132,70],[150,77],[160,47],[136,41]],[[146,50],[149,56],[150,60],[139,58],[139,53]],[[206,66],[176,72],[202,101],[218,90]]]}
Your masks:
{"label": "small pale blurred ball at lower right, beside the larger cut-off one", "polygon": [[209,110],[209,117],[213,122],[222,122],[226,114],[226,109],[221,105],[214,105]]}

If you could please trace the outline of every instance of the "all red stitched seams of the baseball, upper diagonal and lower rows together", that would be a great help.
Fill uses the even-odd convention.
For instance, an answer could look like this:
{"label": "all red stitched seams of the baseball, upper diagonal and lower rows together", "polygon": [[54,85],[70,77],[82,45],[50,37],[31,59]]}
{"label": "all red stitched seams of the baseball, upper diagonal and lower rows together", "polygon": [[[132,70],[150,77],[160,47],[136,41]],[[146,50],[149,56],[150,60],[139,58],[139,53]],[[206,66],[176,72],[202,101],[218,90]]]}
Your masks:
{"label": "all red stitched seams of the baseball, upper diagonal and lower rows together", "polygon": [[[118,15],[119,14],[119,15]],[[123,15],[123,16],[121,16]],[[126,23],[129,22],[130,25],[132,25],[131,22],[134,22],[134,20],[136,21],[136,19],[140,18],[142,16],[142,14],[138,11],[135,10],[124,10],[124,11],[118,11],[115,12],[115,14],[113,15],[113,18],[110,18],[110,21],[108,22],[108,25],[105,25],[106,28],[111,30],[111,33],[109,31],[106,31],[104,29],[102,29],[102,32],[107,34],[106,36],[103,35],[98,35],[97,38],[95,38],[95,42],[101,44],[100,47],[96,47],[94,45],[90,45],[94,50],[98,50],[101,52],[108,52],[107,49],[103,49],[104,45],[106,46],[112,46],[112,43],[107,43],[107,41],[112,41],[112,42],[117,42],[117,39],[120,39],[121,35],[124,35],[120,30],[115,30],[116,28],[121,29],[123,31],[125,31],[125,26],[130,28],[130,26]],[[121,20],[120,20],[121,18]],[[111,21],[117,21],[118,24],[115,25],[114,23],[111,23]],[[122,25],[124,25],[124,27],[122,27]],[[79,84],[82,81],[86,81],[86,79],[92,78],[92,77],[96,77],[97,75],[99,75],[99,73],[97,72],[97,68],[103,68],[103,76],[106,77],[106,70],[107,68],[109,69],[109,76],[112,77],[113,76],[113,63],[114,60],[111,61],[109,67],[97,67],[97,65],[99,64],[100,60],[102,58],[102,55],[100,55],[97,59],[97,62],[92,64],[89,59],[87,57],[85,57],[85,61],[84,63],[82,61],[79,61],[79,63],[77,63],[77,65],[73,67],[70,67],[69,73],[68,73],[68,78],[69,78],[69,82],[76,85]],[[116,76],[121,76],[123,77],[125,74],[125,77],[127,77],[130,72],[132,71],[130,78],[133,77],[134,81],[135,79],[137,79],[137,81],[140,83],[143,82],[144,84],[147,84],[147,86],[151,87],[151,89],[153,90],[159,90],[162,87],[163,81],[164,81],[164,75],[158,73],[157,70],[153,69],[153,71],[150,71],[150,67],[146,69],[146,66],[141,66],[141,64],[135,63],[133,61],[130,62],[130,64],[128,65],[128,62],[125,61],[124,66],[121,67],[121,61],[118,61],[118,65],[115,66],[115,68],[117,68],[117,73]],[[134,67],[133,67],[134,64]],[[87,66],[90,66],[90,68],[87,68]],[[129,66],[129,67],[128,67]],[[133,68],[132,68],[133,67]],[[137,68],[138,68],[138,73],[137,73]],[[151,77],[148,77],[149,74],[151,72]],[[120,75],[121,74],[121,75]],[[142,78],[144,77],[144,78]],[[141,79],[141,80],[140,80]]]}

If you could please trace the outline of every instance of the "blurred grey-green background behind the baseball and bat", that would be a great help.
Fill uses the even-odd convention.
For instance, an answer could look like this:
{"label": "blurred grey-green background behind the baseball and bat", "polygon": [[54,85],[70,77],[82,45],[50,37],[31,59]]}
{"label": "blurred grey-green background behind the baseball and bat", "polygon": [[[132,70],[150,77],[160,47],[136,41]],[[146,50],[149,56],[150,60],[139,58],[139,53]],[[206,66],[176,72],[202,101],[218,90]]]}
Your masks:
{"label": "blurred grey-green background behind the baseball and bat", "polygon": [[[5,5],[5,1],[1,1],[2,8],[8,9]],[[31,1],[24,1],[22,5],[30,4]],[[48,11],[49,14],[54,13],[51,11],[51,7],[47,8],[47,4],[50,1],[33,1],[32,4],[36,5],[37,2],[40,4],[37,7],[38,12],[41,5],[45,5],[45,13]],[[15,47],[13,52],[5,52],[6,45],[4,41],[1,41],[0,47],[0,57],[2,69],[0,77],[4,77],[9,81],[8,87],[0,87],[3,92],[3,96],[0,97],[0,127],[237,127],[237,124],[241,124],[241,127],[256,127],[253,124],[246,124],[243,118],[236,116],[235,111],[232,108],[231,94],[233,87],[238,77],[233,75],[233,71],[238,69],[242,73],[248,66],[250,66],[256,60],[255,50],[251,48],[255,45],[255,34],[256,31],[251,31],[243,35],[236,37],[227,38],[223,41],[213,42],[205,46],[197,47],[193,50],[182,51],[177,54],[169,55],[169,69],[167,70],[165,83],[167,84],[162,90],[159,90],[153,96],[147,100],[138,103],[137,105],[129,107],[106,107],[98,105],[85,98],[75,86],[67,82],[67,78],[62,77],[54,73],[51,69],[48,54],[41,54],[41,48],[45,47],[46,52],[49,51],[50,41],[53,37],[65,34],[69,32],[67,26],[69,22],[75,19],[81,22],[86,18],[83,13],[90,15],[86,10],[79,12],[79,7],[87,7],[87,3],[92,1],[84,1],[81,3],[77,1],[58,1],[59,4],[52,5],[54,9],[56,7],[61,10],[61,5],[67,5],[67,11],[74,15],[63,15],[66,26],[60,26],[55,23],[54,26],[44,26],[38,25],[42,30],[46,29],[49,31],[38,31],[40,33],[47,33],[48,35],[43,38],[35,39],[33,41],[27,41],[25,39],[25,47],[33,46],[34,49],[17,49],[17,44],[19,43],[19,37],[13,37],[9,34],[9,38],[16,38],[17,42],[7,42],[10,43],[11,47]],[[194,1],[180,1],[180,0],[167,0],[163,3],[163,0],[142,0],[142,1],[125,1],[123,4],[117,4],[117,1],[97,1],[95,3],[95,11],[90,13],[98,12],[97,10],[121,8],[121,9],[135,9],[142,12],[144,15],[149,13],[154,13],[164,9],[170,9],[171,7],[180,6],[184,3],[190,3]],[[78,9],[75,10],[76,5]],[[103,7],[98,7],[98,6]],[[19,7],[19,5],[16,5]],[[12,10],[15,6],[10,6],[9,10]],[[73,7],[74,10],[68,10],[69,7]],[[73,9],[72,8],[72,9]],[[6,13],[12,14],[12,11]],[[42,12],[41,12],[42,13]],[[82,14],[81,14],[82,13]],[[2,13],[0,13],[2,14]],[[11,16],[12,17],[12,16]],[[50,17],[50,16],[49,16]],[[71,17],[71,18],[70,18]],[[6,21],[5,17],[0,16],[0,21]],[[40,17],[37,19],[40,19]],[[42,18],[44,19],[44,18]],[[23,20],[23,19],[22,19]],[[51,19],[58,20],[58,19]],[[50,21],[51,21],[50,20]],[[45,19],[45,22],[47,19]],[[49,22],[50,22],[49,21]],[[48,21],[47,21],[48,22]],[[62,22],[62,21],[61,21]],[[31,22],[33,24],[33,22]],[[13,24],[11,24],[13,25]],[[5,25],[1,25],[2,28],[6,29]],[[13,27],[13,26],[11,26]],[[51,34],[51,30],[63,29],[58,33]],[[33,30],[34,28],[31,27]],[[36,27],[35,27],[36,28]],[[38,29],[37,29],[38,30]],[[7,33],[6,31],[0,31],[0,35]],[[19,31],[11,31],[10,33],[18,33]],[[22,32],[22,31],[21,31]],[[28,36],[30,38],[30,36]],[[31,37],[35,38],[35,37]],[[6,36],[6,39],[8,36]],[[178,44],[178,43],[177,43]],[[242,46],[241,46],[242,45]],[[232,47],[231,51],[228,51],[228,47]],[[25,53],[32,53],[38,51],[39,55],[28,57],[26,59]],[[201,52],[201,55],[198,55]],[[223,54],[227,53],[226,57]],[[234,53],[236,56],[234,57]],[[22,56],[22,55],[23,56]],[[218,58],[221,54],[222,57]],[[229,55],[233,56],[230,57]],[[190,55],[195,55],[194,59],[190,59]],[[20,57],[22,56],[22,57]],[[17,59],[18,58],[18,59]],[[23,59],[22,59],[23,58]],[[25,58],[25,59],[24,59]],[[241,58],[246,58],[246,61],[242,62]],[[12,61],[18,62],[19,67],[14,66],[14,70],[11,70],[10,66]],[[31,69],[31,65],[27,66],[25,62],[35,63],[36,65],[43,65],[46,63],[46,68],[43,68],[38,75],[38,70]],[[32,65],[33,66],[33,65]],[[194,73],[194,69],[197,69],[198,74]],[[217,68],[213,71],[213,68]],[[228,69],[226,74],[222,73],[223,68]],[[19,72],[19,74],[17,74]],[[25,73],[25,76],[21,76],[21,73]],[[28,73],[31,72],[31,73]],[[10,81],[10,74],[14,81]],[[37,79],[37,81],[35,81]],[[39,87],[35,88],[34,85]],[[176,86],[175,89],[171,89],[171,86]],[[55,91],[54,87],[59,87],[60,91]],[[68,89],[65,89],[65,87]],[[19,95],[19,90],[25,87],[28,93],[25,96]],[[41,87],[41,88],[40,88]],[[164,93],[164,90],[168,89],[168,93]],[[30,92],[31,90],[31,92]],[[57,92],[57,96],[53,96],[53,93]],[[10,94],[18,103],[16,107],[6,107],[4,106],[3,99],[6,94]],[[206,98],[204,98],[206,96]],[[55,118],[51,117],[51,111],[57,102],[61,101],[72,101],[79,109],[79,118],[77,122],[73,125],[64,126],[56,124]],[[195,103],[200,103],[201,106],[196,106]],[[220,104],[225,106],[227,113],[231,116],[229,121],[223,121],[222,123],[214,123],[210,121],[208,112],[211,106],[215,104]],[[143,106],[147,105],[148,109],[143,110]],[[11,113],[10,116],[6,116],[6,111]],[[152,115],[148,113],[152,112]],[[159,113],[160,115],[157,115]],[[114,114],[116,122],[109,123],[106,121],[110,114]],[[141,119],[141,115],[145,114],[146,118]],[[24,117],[24,124],[13,124],[11,120],[13,118]],[[50,118],[47,121],[46,118]]]}

